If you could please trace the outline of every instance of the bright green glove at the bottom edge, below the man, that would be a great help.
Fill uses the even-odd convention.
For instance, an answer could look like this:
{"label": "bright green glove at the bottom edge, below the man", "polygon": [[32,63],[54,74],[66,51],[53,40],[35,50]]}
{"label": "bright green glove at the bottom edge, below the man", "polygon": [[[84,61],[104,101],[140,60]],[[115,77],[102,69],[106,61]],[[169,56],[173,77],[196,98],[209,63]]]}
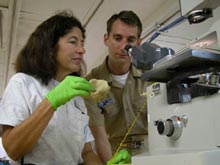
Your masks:
{"label": "bright green glove at the bottom edge, below the man", "polygon": [[111,160],[107,162],[107,165],[127,163],[131,163],[131,155],[127,150],[122,149]]}

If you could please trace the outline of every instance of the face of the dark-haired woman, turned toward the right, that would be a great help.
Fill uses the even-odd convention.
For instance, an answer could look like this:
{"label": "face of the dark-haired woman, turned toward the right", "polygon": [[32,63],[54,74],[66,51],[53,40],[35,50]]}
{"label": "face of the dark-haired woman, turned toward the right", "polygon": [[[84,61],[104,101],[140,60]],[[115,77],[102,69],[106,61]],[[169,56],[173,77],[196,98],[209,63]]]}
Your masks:
{"label": "face of the dark-haired woman, turned toward the right", "polygon": [[79,72],[83,60],[84,38],[81,30],[74,27],[69,33],[58,41],[57,49],[57,76],[66,76]]}

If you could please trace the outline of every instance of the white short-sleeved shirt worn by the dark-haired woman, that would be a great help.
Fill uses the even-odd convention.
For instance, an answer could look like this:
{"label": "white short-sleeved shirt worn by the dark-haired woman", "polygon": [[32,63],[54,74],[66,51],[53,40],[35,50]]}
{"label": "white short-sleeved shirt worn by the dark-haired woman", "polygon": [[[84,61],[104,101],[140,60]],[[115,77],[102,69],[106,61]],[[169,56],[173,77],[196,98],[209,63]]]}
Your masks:
{"label": "white short-sleeved shirt worn by the dark-haired woman", "polygon": [[[0,125],[19,125],[58,84],[56,80],[51,80],[45,86],[32,76],[15,74],[10,79],[0,104]],[[84,144],[94,140],[88,120],[87,109],[81,97],[74,97],[60,106],[34,148],[24,156],[24,162],[38,165],[82,163]]]}

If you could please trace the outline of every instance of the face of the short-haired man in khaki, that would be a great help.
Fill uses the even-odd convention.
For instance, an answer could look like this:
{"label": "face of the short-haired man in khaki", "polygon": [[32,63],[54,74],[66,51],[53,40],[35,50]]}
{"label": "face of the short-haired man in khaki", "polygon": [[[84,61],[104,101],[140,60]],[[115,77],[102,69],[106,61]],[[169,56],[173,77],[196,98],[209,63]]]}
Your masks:
{"label": "face of the short-haired man in khaki", "polygon": [[130,57],[124,51],[127,44],[139,45],[137,26],[130,26],[119,19],[112,25],[109,35],[105,34],[104,43],[109,50],[109,60],[114,63],[130,63]]}

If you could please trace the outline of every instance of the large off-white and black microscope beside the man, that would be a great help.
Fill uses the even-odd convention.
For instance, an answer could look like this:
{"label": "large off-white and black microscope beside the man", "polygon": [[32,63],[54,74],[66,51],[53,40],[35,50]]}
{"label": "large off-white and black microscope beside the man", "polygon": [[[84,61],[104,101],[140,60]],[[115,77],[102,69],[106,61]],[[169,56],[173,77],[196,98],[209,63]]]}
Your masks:
{"label": "large off-white and black microscope beside the man", "polygon": [[[180,0],[190,24],[212,17],[219,0]],[[198,47],[202,45],[203,47]],[[220,164],[220,18],[176,54],[152,43],[126,46],[147,87],[149,151],[132,165]]]}

